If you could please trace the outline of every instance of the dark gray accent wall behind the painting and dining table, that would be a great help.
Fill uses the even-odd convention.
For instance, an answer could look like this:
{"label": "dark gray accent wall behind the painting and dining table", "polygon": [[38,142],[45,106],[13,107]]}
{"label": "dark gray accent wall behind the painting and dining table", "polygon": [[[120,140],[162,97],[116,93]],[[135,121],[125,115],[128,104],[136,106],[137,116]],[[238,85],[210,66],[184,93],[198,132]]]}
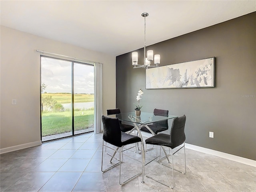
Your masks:
{"label": "dark gray accent wall behind the painting and dining table", "polygon": [[215,57],[215,87],[146,90],[145,69],[133,69],[129,52],[116,57],[116,107],[133,111],[141,88],[142,112],[187,116],[186,143],[256,160],[256,12],[146,49],[160,54],[160,66]]}

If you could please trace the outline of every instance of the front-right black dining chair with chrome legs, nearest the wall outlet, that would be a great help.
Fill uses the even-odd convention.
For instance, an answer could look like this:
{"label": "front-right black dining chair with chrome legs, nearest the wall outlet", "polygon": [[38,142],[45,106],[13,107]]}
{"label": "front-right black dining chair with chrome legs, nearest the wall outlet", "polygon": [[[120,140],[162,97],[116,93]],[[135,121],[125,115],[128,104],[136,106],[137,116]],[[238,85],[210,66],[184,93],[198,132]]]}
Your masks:
{"label": "front-right black dining chair with chrome legs, nearest the wall outlet", "polygon": [[[185,140],[186,140],[186,136],[185,136],[185,132],[184,132],[184,129],[185,129],[185,122],[186,122],[186,116],[183,115],[183,116],[180,116],[180,117],[176,117],[174,118],[173,122],[172,122],[172,127],[171,127],[171,130],[170,130],[170,134],[163,134],[163,133],[160,133],[160,134],[157,134],[155,136],[152,136],[150,138],[147,138],[145,140],[146,144],[152,144],[152,145],[157,145],[157,146],[161,146],[160,147],[160,155],[157,156],[156,158],[159,157],[159,162],[160,164],[162,165],[162,168],[163,168],[163,165],[166,166],[166,167],[169,167],[172,169],[172,178],[173,178],[173,185],[170,183],[169,179],[169,184],[165,184],[159,180],[156,180],[148,175],[145,175],[146,177],[148,178],[151,178],[157,182],[160,182],[168,187],[171,187],[171,188],[174,188],[174,164],[173,164],[173,155],[178,152],[180,149],[184,148],[184,161],[185,161],[185,172],[181,172],[179,170],[176,170],[180,173],[183,173],[185,174],[186,173],[186,153],[185,153]],[[181,146],[182,145],[182,146]],[[167,147],[170,149],[171,151],[171,154],[172,154],[172,167],[170,166],[167,166],[165,164],[162,164],[161,163],[161,150],[165,150],[164,147]],[[175,152],[173,152],[174,149],[178,148]],[[163,158],[167,158],[166,156],[164,156]],[[169,162],[169,159],[168,159],[168,163]],[[167,175],[166,175],[167,176]],[[168,178],[168,177],[167,177]]]}

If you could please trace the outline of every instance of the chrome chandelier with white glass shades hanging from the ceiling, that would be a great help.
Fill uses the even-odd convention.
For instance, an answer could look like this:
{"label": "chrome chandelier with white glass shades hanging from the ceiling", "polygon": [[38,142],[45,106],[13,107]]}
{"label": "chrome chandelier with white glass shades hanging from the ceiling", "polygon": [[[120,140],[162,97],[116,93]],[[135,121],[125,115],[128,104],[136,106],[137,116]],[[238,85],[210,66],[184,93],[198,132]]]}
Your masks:
{"label": "chrome chandelier with white glass shades hanging from the ceiling", "polygon": [[158,64],[160,64],[160,55],[156,54],[154,55],[154,64],[150,65],[153,60],[153,50],[147,51],[147,57],[146,57],[146,17],[148,16],[148,13],[142,13],[142,17],[144,17],[144,64],[140,65],[138,64],[138,52],[132,52],[132,65],[133,68],[148,68],[148,67],[158,67]]}

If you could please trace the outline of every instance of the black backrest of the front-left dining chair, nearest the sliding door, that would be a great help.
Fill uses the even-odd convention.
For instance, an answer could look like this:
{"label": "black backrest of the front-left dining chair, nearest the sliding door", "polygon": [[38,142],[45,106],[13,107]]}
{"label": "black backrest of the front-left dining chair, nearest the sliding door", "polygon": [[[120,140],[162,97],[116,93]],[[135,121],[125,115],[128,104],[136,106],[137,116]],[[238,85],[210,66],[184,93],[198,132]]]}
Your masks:
{"label": "black backrest of the front-left dining chair, nearest the sliding door", "polygon": [[103,140],[114,145],[120,146],[121,130],[118,118],[112,118],[102,115]]}

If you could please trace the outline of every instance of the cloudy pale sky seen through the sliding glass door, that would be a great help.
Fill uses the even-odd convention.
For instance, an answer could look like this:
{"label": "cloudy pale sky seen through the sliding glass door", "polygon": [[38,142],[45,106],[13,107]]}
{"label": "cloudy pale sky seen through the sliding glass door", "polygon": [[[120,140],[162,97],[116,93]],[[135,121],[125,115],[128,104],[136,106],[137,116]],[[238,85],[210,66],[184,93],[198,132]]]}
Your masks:
{"label": "cloudy pale sky seen through the sliding glass door", "polygon": [[[72,62],[41,57],[41,82],[44,92],[71,93]],[[74,63],[74,93],[94,93],[94,66]]]}

